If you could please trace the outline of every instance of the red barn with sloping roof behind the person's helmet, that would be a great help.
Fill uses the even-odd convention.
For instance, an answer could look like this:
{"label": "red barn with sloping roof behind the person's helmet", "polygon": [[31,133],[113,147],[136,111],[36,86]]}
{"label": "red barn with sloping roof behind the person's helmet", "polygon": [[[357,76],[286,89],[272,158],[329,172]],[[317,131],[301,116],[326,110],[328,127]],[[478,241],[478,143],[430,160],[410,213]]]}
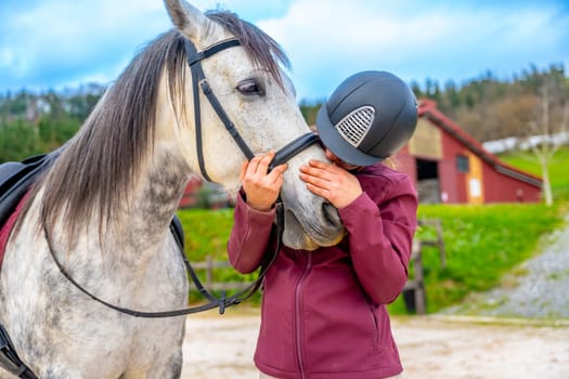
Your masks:
{"label": "red barn with sloping roof behind the person's helmet", "polygon": [[417,129],[397,156],[416,183],[422,202],[487,204],[541,200],[539,177],[516,169],[437,109],[419,102]]}

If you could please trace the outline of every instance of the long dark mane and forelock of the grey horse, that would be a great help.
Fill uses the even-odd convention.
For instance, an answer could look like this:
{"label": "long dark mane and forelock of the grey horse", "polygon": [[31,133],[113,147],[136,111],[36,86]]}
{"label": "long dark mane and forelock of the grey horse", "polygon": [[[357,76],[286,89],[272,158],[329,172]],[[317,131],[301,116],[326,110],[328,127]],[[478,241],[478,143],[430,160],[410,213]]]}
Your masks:
{"label": "long dark mane and forelock of the grey horse", "polygon": [[[282,86],[279,64],[288,66],[288,60],[271,37],[234,13],[206,14],[235,35],[254,64],[268,69]],[[186,65],[184,37],[176,29],[158,36],[134,56],[42,180],[43,222],[49,228],[61,218],[68,235],[75,236],[100,214],[101,234],[102,225],[128,204],[129,185],[153,148],[161,75],[167,73],[170,97],[182,96],[183,108]]]}

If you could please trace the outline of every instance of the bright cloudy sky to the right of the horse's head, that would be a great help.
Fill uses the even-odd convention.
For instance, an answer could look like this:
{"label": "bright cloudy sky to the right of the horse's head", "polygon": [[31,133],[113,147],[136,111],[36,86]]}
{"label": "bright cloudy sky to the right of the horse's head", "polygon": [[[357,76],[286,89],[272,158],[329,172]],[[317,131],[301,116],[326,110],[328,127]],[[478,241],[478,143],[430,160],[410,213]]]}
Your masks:
{"label": "bright cloudy sky to the right of the horse's head", "polygon": [[546,3],[495,4],[352,0],[323,9],[302,0],[259,25],[287,50],[298,91],[308,95],[328,93],[362,69],[460,81],[487,69],[510,76],[532,63],[569,63],[567,12]]}

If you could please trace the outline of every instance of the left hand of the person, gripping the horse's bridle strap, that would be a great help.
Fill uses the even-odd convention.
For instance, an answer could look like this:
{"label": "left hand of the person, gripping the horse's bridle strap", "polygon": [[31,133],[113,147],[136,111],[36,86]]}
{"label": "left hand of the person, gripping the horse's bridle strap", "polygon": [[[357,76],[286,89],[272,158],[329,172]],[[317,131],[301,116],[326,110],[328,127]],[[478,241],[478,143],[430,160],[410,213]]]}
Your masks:
{"label": "left hand of the person, gripping the horse's bridle strap", "polygon": [[276,201],[283,185],[283,173],[287,169],[287,165],[283,164],[267,172],[274,154],[271,151],[266,155],[258,155],[243,164],[241,169],[240,181],[247,196],[247,204],[259,211],[270,210]]}

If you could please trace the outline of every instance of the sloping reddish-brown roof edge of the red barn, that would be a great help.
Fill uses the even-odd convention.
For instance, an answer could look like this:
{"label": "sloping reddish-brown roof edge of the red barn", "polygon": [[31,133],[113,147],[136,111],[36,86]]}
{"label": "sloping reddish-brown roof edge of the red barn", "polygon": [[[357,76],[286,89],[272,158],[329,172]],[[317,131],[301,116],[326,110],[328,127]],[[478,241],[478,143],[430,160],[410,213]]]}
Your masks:
{"label": "sloping reddish-brown roof edge of the red barn", "polygon": [[474,136],[464,131],[461,127],[454,123],[451,119],[444,116],[438,108],[437,102],[432,100],[421,100],[418,105],[418,117],[428,119],[435,126],[450,134],[452,138],[457,140],[460,143],[465,145],[469,151],[476,154],[480,159],[486,161],[488,165],[494,168],[497,172],[526,182],[528,184],[541,187],[542,180],[540,177],[533,175],[529,172],[517,169],[504,161],[499,157],[487,151],[480,142]]}

